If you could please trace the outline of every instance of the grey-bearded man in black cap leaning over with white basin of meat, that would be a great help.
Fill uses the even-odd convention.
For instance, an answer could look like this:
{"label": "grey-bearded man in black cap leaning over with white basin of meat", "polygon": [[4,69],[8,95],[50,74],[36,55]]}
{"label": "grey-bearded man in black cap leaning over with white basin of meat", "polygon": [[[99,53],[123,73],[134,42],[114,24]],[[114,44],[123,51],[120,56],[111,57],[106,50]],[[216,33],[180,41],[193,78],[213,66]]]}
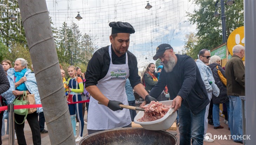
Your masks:
{"label": "grey-bearded man in black cap leaning over with white basin of meat", "polygon": [[202,145],[204,134],[204,114],[209,104],[206,87],[195,61],[187,55],[175,54],[169,44],[156,48],[154,60],[160,59],[164,67],[155,87],[149,95],[157,97],[167,85],[171,105],[179,113],[180,144]]}

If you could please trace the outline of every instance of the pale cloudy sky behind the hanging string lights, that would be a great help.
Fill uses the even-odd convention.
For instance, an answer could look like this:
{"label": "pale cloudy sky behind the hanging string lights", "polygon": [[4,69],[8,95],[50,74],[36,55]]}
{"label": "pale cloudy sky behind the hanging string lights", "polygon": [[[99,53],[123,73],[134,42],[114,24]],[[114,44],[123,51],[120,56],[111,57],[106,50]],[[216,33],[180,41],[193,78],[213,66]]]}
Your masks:
{"label": "pale cloudy sky behind the hanging string lights", "polygon": [[[186,12],[193,12],[195,6],[188,0],[46,0],[53,27],[62,23],[68,26],[74,22],[82,34],[89,34],[96,48],[110,45],[109,22],[129,22],[135,29],[130,35],[131,51],[138,61],[138,68],[153,60],[156,47],[169,43],[175,52],[184,47],[184,36],[196,32],[196,25],[190,24]],[[83,19],[75,16],[80,12]],[[145,59],[147,57],[147,59]]]}

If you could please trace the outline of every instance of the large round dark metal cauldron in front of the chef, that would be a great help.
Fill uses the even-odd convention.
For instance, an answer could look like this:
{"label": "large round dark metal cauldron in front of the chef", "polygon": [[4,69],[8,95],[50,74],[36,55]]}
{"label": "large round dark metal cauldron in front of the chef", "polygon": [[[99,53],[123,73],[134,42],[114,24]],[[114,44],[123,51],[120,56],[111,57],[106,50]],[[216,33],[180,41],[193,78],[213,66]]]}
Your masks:
{"label": "large round dark metal cauldron in front of the chef", "polygon": [[166,131],[120,128],[90,134],[79,145],[178,145],[177,137]]}

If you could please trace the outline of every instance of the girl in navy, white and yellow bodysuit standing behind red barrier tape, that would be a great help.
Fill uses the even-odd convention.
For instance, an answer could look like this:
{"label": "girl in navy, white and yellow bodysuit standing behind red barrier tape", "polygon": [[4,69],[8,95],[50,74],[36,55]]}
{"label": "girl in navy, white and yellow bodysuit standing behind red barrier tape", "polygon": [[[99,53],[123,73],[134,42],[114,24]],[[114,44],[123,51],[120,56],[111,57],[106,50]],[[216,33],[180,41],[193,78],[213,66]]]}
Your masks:
{"label": "girl in navy, white and yellow bodysuit standing behind red barrier tape", "polygon": [[[68,103],[72,102],[78,102],[82,101],[81,93],[83,92],[83,81],[80,77],[75,75],[76,68],[72,65],[68,67],[68,75],[70,78],[68,79],[68,90],[69,90],[69,96],[68,96]],[[74,131],[74,135],[76,137],[75,133],[75,116],[78,116],[79,120],[79,136],[75,139],[76,142],[79,142],[83,138],[83,116],[82,116],[82,104],[76,103],[76,104],[68,104],[68,109],[71,117],[71,123]]]}

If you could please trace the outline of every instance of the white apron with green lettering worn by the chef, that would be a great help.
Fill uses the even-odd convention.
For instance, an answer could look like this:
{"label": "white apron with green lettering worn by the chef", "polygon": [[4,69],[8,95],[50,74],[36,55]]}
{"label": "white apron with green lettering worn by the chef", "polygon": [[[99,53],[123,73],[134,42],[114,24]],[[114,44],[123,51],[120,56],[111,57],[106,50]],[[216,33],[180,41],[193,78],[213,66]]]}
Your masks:
{"label": "white apron with green lettering worn by the chef", "polygon": [[[111,45],[108,51],[110,56],[108,73],[98,82],[97,87],[109,100],[120,101],[128,105],[125,92],[126,79],[129,77],[127,53],[125,64],[113,64]],[[90,130],[113,129],[127,126],[132,122],[129,109],[112,111],[107,106],[98,104],[93,97],[90,97],[89,108],[87,129]]]}

